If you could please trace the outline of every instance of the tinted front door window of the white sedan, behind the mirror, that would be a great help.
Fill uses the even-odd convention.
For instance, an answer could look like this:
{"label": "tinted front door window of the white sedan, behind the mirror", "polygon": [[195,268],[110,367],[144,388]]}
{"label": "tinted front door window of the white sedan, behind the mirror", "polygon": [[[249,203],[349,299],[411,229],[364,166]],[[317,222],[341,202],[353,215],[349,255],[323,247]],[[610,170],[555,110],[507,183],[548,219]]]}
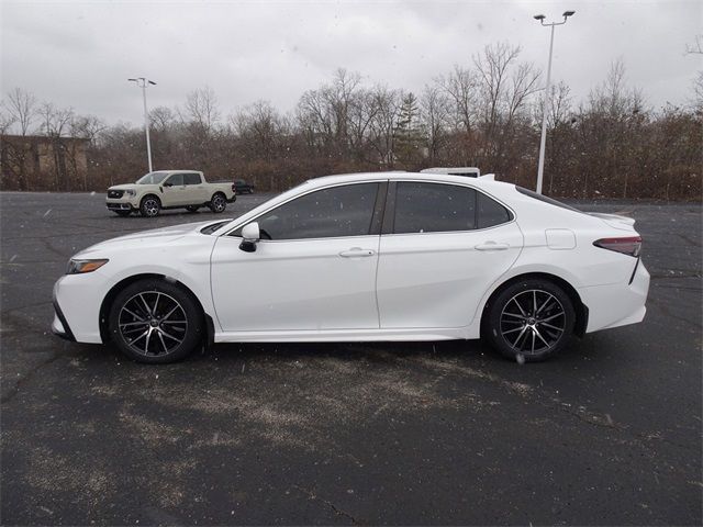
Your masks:
{"label": "tinted front door window of the white sedan, behind the mirror", "polygon": [[289,201],[256,220],[261,238],[301,239],[368,235],[378,187],[378,183],[333,187]]}

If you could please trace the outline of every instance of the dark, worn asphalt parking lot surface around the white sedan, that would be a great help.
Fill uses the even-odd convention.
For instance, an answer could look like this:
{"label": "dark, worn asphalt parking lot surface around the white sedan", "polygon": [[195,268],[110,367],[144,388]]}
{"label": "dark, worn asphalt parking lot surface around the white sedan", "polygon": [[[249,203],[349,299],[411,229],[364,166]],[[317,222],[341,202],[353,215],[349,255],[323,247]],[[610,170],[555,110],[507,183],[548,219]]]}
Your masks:
{"label": "dark, worn asphalt parking lot surface around the white sedan", "polygon": [[649,311],[555,360],[286,344],[147,367],[54,337],[52,287],[83,247],[216,216],[0,193],[2,525],[701,525],[701,205],[582,208],[637,220]]}

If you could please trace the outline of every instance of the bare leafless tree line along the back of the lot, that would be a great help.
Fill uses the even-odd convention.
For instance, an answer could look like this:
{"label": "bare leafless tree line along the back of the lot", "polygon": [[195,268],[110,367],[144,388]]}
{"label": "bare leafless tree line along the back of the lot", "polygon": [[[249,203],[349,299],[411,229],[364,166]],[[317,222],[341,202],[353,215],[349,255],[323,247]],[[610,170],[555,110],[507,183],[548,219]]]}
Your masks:
{"label": "bare leafless tree line along the back of the lot", "polygon": [[[203,170],[212,180],[245,179],[259,190],[281,191],[328,173],[476,166],[534,188],[542,78],[521,60],[520,47],[498,43],[419,93],[369,85],[338,69],[288,113],[261,100],[224,115],[205,87],[188,93],[182,105],[150,110],[154,167]],[[546,194],[701,198],[703,75],[690,103],[655,110],[627,86],[625,67],[615,61],[578,103],[567,85],[554,86],[547,112]],[[26,188],[21,175],[3,168],[2,189],[102,191],[146,171],[143,127],[38,103],[19,88],[2,101],[0,132],[88,139],[83,178]]]}

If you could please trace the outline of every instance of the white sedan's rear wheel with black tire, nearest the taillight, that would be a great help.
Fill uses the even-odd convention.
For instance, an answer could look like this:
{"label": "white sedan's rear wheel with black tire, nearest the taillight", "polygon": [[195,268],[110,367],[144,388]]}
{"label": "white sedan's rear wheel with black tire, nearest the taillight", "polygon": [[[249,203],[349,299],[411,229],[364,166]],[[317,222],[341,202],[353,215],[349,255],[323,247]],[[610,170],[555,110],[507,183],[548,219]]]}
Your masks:
{"label": "white sedan's rear wheel with black tire, nearest the taillight", "polygon": [[559,285],[528,278],[509,284],[491,299],[481,335],[509,359],[538,362],[568,345],[574,323],[573,303]]}

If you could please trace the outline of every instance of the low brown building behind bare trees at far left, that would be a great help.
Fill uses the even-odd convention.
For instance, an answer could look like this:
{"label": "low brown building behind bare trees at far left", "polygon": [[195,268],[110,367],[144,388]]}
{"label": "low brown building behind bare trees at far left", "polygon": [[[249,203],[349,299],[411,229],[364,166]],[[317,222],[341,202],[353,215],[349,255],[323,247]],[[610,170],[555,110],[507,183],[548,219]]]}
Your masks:
{"label": "low brown building behind bare trees at far left", "polygon": [[0,190],[83,190],[89,139],[0,135]]}

